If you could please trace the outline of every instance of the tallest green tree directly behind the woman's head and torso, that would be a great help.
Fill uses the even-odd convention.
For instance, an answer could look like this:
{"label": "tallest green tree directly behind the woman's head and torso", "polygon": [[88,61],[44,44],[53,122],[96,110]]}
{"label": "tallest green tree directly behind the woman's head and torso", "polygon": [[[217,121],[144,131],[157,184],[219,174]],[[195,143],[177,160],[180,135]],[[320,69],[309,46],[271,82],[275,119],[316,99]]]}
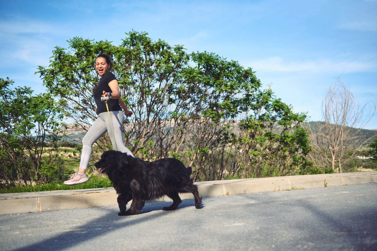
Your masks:
{"label": "tallest green tree directly behind the woman's head and torso", "polygon": [[[60,99],[76,130],[85,132],[97,117],[92,92],[99,76],[93,59],[100,53],[108,54],[113,59],[111,71],[118,78],[122,98],[134,113],[133,121],[124,123],[124,132],[130,132],[126,146],[143,158],[167,155],[169,147],[161,144],[171,140],[159,132],[164,130],[163,119],[173,106],[169,98],[172,82],[189,59],[183,47],[172,47],[162,40],[154,42],[146,33],[130,32],[120,46],[74,38],[69,40],[69,48],[73,53],[55,47],[50,66],[40,66],[38,72],[50,92]],[[147,144],[152,139],[158,148]],[[109,149],[107,142],[105,135],[98,142],[100,149]]]}

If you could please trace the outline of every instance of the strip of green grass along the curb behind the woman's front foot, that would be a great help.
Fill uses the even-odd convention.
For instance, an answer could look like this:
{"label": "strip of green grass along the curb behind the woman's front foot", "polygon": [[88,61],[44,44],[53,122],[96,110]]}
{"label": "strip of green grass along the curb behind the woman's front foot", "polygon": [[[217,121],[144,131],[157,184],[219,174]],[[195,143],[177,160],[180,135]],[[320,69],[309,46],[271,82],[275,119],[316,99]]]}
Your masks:
{"label": "strip of green grass along the curb behind the woman's front foot", "polygon": [[38,191],[105,188],[105,187],[112,187],[112,186],[113,185],[110,182],[109,178],[92,176],[89,179],[89,181],[83,184],[74,185],[74,186],[67,186],[67,185],[64,185],[63,183],[59,183],[59,184],[49,183],[49,184],[42,184],[42,185],[35,185],[35,186],[1,188],[0,193],[25,193],[25,192],[38,192]]}

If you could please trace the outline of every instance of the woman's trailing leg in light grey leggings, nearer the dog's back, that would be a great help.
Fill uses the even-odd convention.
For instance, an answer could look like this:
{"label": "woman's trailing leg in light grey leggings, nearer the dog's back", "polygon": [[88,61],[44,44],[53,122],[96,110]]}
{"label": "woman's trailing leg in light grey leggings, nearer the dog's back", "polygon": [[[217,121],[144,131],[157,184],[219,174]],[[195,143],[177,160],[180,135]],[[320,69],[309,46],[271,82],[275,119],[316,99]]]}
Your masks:
{"label": "woman's trailing leg in light grey leggings, nearer the dog's back", "polygon": [[[100,118],[102,118],[106,122],[107,131],[109,132],[109,137],[113,145],[113,150],[117,150],[118,148],[118,151],[122,153],[127,153],[128,155],[131,155],[132,157],[134,157],[132,152],[127,147],[124,146],[124,142],[123,142],[123,119],[124,119],[123,112],[112,111],[110,112],[110,117],[111,117],[112,126],[110,124],[109,114],[107,112],[100,113]],[[113,130],[114,132],[112,132]],[[114,141],[114,138],[115,138],[115,141]]]}

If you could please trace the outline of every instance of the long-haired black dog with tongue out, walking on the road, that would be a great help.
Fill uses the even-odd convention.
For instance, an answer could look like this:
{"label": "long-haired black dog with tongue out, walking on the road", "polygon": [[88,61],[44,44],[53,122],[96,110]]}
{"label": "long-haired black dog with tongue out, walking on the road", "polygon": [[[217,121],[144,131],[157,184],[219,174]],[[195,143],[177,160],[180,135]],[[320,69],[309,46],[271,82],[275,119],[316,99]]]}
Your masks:
{"label": "long-haired black dog with tongue out, walking on the road", "polygon": [[[127,153],[106,151],[95,167],[106,173],[118,194],[118,215],[138,214],[148,200],[164,195],[173,199],[173,204],[162,210],[175,210],[182,202],[178,193],[194,194],[195,207],[201,208],[202,198],[198,187],[190,179],[191,167],[186,168],[178,159],[165,158],[153,162],[134,158]],[[127,203],[132,199],[130,209]]]}

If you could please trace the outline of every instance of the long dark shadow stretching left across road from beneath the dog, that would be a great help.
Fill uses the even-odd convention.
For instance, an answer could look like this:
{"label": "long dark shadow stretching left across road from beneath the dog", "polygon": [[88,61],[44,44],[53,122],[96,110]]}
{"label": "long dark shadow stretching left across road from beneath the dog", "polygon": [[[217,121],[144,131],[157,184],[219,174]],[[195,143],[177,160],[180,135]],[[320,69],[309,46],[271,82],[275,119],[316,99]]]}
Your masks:
{"label": "long dark shadow stretching left across road from beneath the dog", "polygon": [[[108,213],[97,217],[96,219],[92,219],[86,222],[84,225],[80,225],[80,227],[73,227],[67,230],[64,230],[63,233],[57,234],[50,238],[41,240],[39,242],[23,246],[21,248],[12,249],[14,251],[29,251],[29,250],[63,250],[74,248],[80,242],[78,239],[85,238],[94,239],[96,237],[102,236],[104,234],[110,233],[112,231],[116,231],[120,228],[124,228],[130,225],[141,224],[148,220],[153,220],[158,217],[162,217],[167,215],[169,211],[162,211],[163,207],[167,207],[171,205],[172,202],[170,201],[155,201],[155,202],[147,202],[141,211],[140,214],[134,216],[118,216],[119,210],[109,210]],[[128,205],[129,206],[129,205]],[[182,203],[178,206],[176,210],[180,210],[185,207],[193,207],[195,209],[195,201],[194,199],[184,199]],[[202,205],[203,207],[203,205]],[[101,209],[103,207],[93,208],[94,210]],[[176,211],[175,210],[175,211]],[[196,210],[196,209],[195,209]],[[153,214],[150,212],[157,211]],[[126,222],[124,220],[127,220]],[[98,230],[98,226],[101,227],[101,230]],[[85,237],[83,237],[85,236]]]}

